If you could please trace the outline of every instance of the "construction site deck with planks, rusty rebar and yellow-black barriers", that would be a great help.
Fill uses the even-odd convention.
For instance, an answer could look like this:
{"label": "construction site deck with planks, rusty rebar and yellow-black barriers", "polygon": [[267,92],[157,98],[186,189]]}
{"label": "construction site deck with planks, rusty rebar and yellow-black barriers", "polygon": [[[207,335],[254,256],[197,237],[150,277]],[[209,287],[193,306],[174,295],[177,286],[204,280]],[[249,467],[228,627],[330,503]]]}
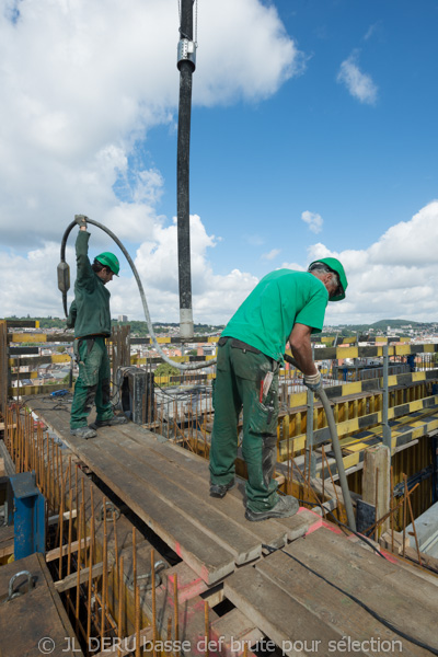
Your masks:
{"label": "construction site deck with planks, rusty rebar and yellow-black barriers", "polygon": [[[199,381],[182,382],[184,404],[157,395],[145,422],[83,440],[70,435],[71,395],[50,395],[59,385],[11,390],[15,359],[31,356],[12,355],[24,341],[0,327],[1,491],[7,500],[7,480],[22,476],[45,505],[44,550],[13,561],[20,532],[0,527],[0,655],[437,654],[438,561],[415,521],[436,500],[438,345],[318,349],[384,355],[394,371],[406,354],[430,355],[423,371],[327,384],[362,518],[354,533],[323,410],[292,372],[275,477],[300,509],[250,522],[240,454],[237,486],[209,496],[214,410],[208,390],[191,399]],[[113,344],[113,366],[132,366],[129,335]]]}

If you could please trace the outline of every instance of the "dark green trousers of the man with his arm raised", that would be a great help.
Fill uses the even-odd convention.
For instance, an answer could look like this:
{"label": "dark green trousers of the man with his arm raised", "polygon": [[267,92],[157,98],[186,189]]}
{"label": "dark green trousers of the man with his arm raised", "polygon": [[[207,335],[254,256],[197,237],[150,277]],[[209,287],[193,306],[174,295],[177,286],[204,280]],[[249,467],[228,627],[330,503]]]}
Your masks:
{"label": "dark green trousers of the man with his arm raised", "polygon": [[74,384],[71,404],[70,428],[87,426],[91,405],[95,402],[99,420],[111,419],[114,415],[110,396],[110,358],[105,338],[101,335],[81,337],[76,341],[79,358],[79,377]]}

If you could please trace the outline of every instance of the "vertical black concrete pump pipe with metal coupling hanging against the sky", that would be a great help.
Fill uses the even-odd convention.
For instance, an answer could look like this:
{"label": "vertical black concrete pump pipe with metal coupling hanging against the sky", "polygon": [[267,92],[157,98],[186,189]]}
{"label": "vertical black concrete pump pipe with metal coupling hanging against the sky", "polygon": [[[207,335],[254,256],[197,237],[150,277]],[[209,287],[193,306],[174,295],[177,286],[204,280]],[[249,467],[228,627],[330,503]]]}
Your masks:
{"label": "vertical black concrete pump pipe with metal coupling hanging against the sky", "polygon": [[193,337],[191,227],[189,227],[189,155],[192,76],[196,66],[196,44],[193,41],[193,5],[196,0],[181,0],[180,43],[180,111],[177,132],[177,242],[180,280],[180,333]]}

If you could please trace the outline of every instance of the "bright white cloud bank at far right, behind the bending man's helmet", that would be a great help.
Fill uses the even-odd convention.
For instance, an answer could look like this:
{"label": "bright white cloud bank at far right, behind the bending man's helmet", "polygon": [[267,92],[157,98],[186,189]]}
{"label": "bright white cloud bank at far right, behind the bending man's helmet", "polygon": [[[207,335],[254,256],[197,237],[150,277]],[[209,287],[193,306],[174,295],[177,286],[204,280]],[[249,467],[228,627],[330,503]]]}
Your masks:
{"label": "bright white cloud bank at far right, behind the bending man's helmet", "polygon": [[366,250],[341,253],[324,244],[309,249],[309,262],[338,257],[348,279],[346,300],[328,303],[326,323],[376,322],[407,318],[438,320],[438,269],[434,249],[438,243],[438,200],[410,221],[391,227]]}

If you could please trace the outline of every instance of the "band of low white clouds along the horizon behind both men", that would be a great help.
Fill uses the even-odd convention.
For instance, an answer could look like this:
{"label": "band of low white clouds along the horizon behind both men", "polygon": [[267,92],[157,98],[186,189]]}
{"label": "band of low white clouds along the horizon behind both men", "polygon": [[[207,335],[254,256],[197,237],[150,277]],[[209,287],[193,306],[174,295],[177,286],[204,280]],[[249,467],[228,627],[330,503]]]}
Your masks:
{"label": "band of low white clouds along the horizon behind both men", "polygon": [[[92,231],[90,253],[96,253],[97,233]],[[219,276],[212,270],[208,252],[218,242],[208,234],[196,215],[191,217],[193,308],[196,322],[226,323],[240,303],[257,284],[251,273],[232,269]],[[74,231],[72,233],[73,238]],[[69,241],[67,260],[74,281],[74,256]],[[415,243],[412,244],[412,241]],[[338,257],[343,263],[348,289],[346,299],[328,303],[325,323],[365,323],[381,319],[406,318],[417,321],[438,319],[438,269],[434,245],[438,243],[438,200],[422,208],[410,221],[391,227],[376,243],[364,250],[332,252],[323,243],[308,251],[308,262],[321,257]],[[412,256],[408,258],[410,244]],[[129,266],[108,240],[99,249],[120,255],[120,278],[110,284],[112,314],[127,314],[142,319],[137,286]],[[157,222],[151,238],[137,250],[135,264],[139,270],[148,299],[152,321],[178,321],[176,224]],[[424,257],[414,255],[424,254]],[[134,254],[132,254],[134,255]],[[61,316],[61,295],[57,289],[56,266],[59,245],[46,243],[32,250],[25,257],[2,253],[0,258],[0,315],[27,313]],[[281,267],[303,270],[298,263],[283,263]],[[72,290],[69,300],[72,299]]]}

